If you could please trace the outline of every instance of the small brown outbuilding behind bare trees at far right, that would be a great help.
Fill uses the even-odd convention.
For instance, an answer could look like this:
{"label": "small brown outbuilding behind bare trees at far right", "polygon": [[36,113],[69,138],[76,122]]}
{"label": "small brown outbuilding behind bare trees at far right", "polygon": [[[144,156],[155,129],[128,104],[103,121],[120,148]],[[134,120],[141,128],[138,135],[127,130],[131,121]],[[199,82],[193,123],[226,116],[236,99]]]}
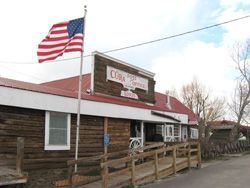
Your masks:
{"label": "small brown outbuilding behind bare trees at far right", "polygon": [[235,135],[234,128],[237,123],[229,120],[211,121],[207,123],[211,129],[209,141],[212,143],[229,143],[235,141],[235,138],[249,139],[250,127],[240,125],[239,135]]}

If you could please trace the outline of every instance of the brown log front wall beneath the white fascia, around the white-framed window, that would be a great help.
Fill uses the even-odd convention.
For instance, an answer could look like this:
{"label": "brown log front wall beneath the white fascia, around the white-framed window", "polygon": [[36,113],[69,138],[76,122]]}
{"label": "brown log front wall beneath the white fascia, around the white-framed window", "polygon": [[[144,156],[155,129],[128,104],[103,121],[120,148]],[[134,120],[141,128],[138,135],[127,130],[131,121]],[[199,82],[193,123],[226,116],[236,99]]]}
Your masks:
{"label": "brown log front wall beneath the white fascia, around the white-framed window", "polygon": [[[130,120],[109,119],[109,152],[128,149],[129,128]],[[103,154],[103,130],[103,117],[81,116],[79,158]],[[17,137],[25,139],[24,170],[64,168],[75,155],[76,115],[71,115],[70,150],[45,151],[45,111],[0,105],[0,166],[15,166]]]}

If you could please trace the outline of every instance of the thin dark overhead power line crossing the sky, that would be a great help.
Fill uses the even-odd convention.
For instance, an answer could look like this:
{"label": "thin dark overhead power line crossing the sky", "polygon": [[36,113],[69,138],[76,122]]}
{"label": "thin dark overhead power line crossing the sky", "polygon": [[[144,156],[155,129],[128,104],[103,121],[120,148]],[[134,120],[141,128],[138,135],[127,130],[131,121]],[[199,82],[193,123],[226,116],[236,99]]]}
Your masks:
{"label": "thin dark overhead power line crossing the sky", "polygon": [[[163,41],[163,40],[168,40],[168,39],[180,37],[180,36],[183,36],[183,35],[187,35],[187,34],[199,32],[199,31],[202,31],[202,30],[211,29],[213,27],[218,27],[218,26],[225,25],[225,24],[228,24],[228,23],[231,23],[231,22],[236,22],[236,21],[239,21],[239,20],[243,20],[243,19],[246,19],[246,18],[249,18],[249,17],[250,17],[250,15],[246,15],[246,16],[243,16],[243,17],[239,17],[239,18],[235,18],[235,19],[232,19],[232,20],[224,21],[224,22],[217,23],[217,24],[214,24],[214,25],[210,25],[210,26],[206,26],[206,27],[202,27],[202,28],[198,28],[198,29],[186,31],[186,32],[183,32],[183,33],[175,34],[175,35],[166,36],[166,37],[155,39],[155,40],[151,40],[151,41],[137,43],[137,44],[133,44],[133,45],[130,45],[130,46],[125,46],[125,47],[121,47],[121,48],[115,48],[115,49],[103,51],[101,53],[104,53],[104,54],[105,53],[111,53],[111,52],[126,50],[126,49],[129,49],[129,48],[135,48],[135,47],[139,47],[139,46],[143,46],[143,45],[148,45],[148,44],[152,44],[152,43],[155,43],[155,42],[160,42],[160,41]],[[88,54],[88,55],[85,55],[83,57],[86,58],[86,57],[90,57],[90,56],[92,56],[92,55]],[[52,61],[49,61],[49,62],[60,62],[60,61],[73,60],[73,59],[79,59],[79,58],[80,58],[80,56],[79,57],[73,57],[73,58],[65,58],[65,59],[60,59],[60,60],[52,60]],[[49,63],[49,62],[44,62],[44,63]],[[1,62],[0,61],[0,64],[1,63],[9,63],[9,64],[37,64],[37,62],[19,62],[18,63],[18,62]]]}

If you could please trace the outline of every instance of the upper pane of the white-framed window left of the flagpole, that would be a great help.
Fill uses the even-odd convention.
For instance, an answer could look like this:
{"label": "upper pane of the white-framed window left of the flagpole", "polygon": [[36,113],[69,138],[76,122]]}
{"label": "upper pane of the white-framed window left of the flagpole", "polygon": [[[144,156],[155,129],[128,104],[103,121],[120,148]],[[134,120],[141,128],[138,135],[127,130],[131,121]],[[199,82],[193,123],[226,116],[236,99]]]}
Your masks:
{"label": "upper pane of the white-framed window left of the flagpole", "polygon": [[50,113],[50,128],[67,129],[67,114],[64,113]]}

